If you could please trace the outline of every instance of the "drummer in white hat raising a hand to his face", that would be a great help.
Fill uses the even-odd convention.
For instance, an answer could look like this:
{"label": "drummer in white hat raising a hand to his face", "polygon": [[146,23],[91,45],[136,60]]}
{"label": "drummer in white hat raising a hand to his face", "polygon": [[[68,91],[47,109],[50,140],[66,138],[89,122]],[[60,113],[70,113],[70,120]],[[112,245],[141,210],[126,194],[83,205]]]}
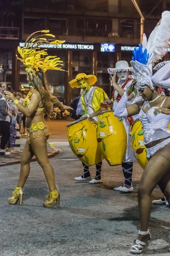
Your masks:
{"label": "drummer in white hat raising a hand to his face", "polygon": [[[106,102],[111,105],[113,103],[113,110],[116,109],[116,105],[123,96],[124,92],[128,90],[130,84],[133,79],[130,78],[129,74],[133,71],[132,67],[129,67],[127,61],[118,61],[116,62],[116,68],[108,68],[108,73],[112,76],[112,85],[114,87],[112,93],[112,101],[106,99]],[[118,76],[118,84],[116,83],[116,75]],[[128,97],[128,104],[132,104],[133,102],[141,100],[139,93],[133,91]],[[125,159],[122,163],[122,170],[125,177],[125,183],[122,186],[114,188],[114,190],[120,191],[122,193],[133,192],[133,184],[132,184],[132,171],[133,171],[133,162],[135,161],[135,157],[133,155],[133,151],[130,145],[130,125],[133,121],[138,118],[138,115],[123,119],[123,124],[125,126],[125,130],[127,133],[127,151],[125,155]]]}

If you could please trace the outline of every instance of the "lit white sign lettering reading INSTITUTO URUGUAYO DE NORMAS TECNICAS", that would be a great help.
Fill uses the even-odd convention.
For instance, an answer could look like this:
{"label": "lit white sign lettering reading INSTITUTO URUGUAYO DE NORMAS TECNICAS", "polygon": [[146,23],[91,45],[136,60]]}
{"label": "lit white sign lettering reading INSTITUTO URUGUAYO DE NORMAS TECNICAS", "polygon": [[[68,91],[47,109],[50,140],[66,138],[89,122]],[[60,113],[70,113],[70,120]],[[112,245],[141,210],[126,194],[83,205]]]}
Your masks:
{"label": "lit white sign lettering reading INSTITUTO URUGUAYO DE NORMAS TECNICAS", "polygon": [[[20,47],[24,47],[25,44],[20,42]],[[35,44],[36,46],[36,44]],[[52,48],[52,49],[82,49],[82,50],[93,50],[93,44],[43,44],[40,48]]]}

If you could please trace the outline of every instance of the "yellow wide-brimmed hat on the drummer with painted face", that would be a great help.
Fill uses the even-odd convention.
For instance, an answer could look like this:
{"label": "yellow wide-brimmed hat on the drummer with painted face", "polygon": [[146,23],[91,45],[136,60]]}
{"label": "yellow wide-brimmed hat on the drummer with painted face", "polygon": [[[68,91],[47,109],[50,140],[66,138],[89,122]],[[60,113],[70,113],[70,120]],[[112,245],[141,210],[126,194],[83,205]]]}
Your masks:
{"label": "yellow wide-brimmed hat on the drummer with painted face", "polygon": [[77,83],[77,81],[82,80],[82,79],[88,79],[88,83],[90,86],[96,84],[97,78],[94,75],[86,75],[85,73],[79,73],[76,76],[76,79],[73,79],[69,82],[70,86],[72,88],[79,88],[79,84]]}

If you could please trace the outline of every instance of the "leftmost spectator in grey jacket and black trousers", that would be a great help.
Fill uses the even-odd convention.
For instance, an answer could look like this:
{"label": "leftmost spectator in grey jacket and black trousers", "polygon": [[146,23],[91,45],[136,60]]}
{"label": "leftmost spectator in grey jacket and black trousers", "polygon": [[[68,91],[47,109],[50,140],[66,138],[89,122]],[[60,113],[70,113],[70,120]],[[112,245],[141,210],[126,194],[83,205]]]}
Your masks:
{"label": "leftmost spectator in grey jacket and black trousers", "polygon": [[1,128],[1,140],[0,140],[0,154],[10,154],[10,152],[6,152],[6,143],[10,137],[10,113],[9,104],[7,101],[8,96],[4,96],[0,99],[0,128]]}

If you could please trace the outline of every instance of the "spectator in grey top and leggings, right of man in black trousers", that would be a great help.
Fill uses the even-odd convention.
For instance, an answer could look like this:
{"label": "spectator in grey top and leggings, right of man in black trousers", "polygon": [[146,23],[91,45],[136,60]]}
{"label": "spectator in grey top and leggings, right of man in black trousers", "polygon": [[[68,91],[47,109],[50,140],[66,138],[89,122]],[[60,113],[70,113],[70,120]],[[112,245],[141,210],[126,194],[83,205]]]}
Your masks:
{"label": "spectator in grey top and leggings, right of man in black trousers", "polygon": [[14,104],[14,102],[12,102],[11,100],[9,103],[9,108],[10,108],[10,111],[12,114],[12,119],[11,119],[11,123],[10,123],[10,138],[9,138],[9,142],[8,142],[9,152],[10,153],[18,153],[19,151],[14,149],[15,141],[16,141],[16,137],[17,137],[16,120],[17,120],[18,108]]}

